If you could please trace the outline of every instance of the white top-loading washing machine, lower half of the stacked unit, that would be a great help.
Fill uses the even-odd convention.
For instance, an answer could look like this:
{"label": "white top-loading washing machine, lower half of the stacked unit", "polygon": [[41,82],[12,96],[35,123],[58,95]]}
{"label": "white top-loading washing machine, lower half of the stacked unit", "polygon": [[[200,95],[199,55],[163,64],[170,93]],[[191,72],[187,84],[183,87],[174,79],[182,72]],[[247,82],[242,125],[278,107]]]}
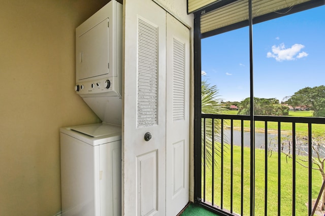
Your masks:
{"label": "white top-loading washing machine, lower half of the stacked unit", "polygon": [[121,215],[121,126],[60,128],[62,215]]}

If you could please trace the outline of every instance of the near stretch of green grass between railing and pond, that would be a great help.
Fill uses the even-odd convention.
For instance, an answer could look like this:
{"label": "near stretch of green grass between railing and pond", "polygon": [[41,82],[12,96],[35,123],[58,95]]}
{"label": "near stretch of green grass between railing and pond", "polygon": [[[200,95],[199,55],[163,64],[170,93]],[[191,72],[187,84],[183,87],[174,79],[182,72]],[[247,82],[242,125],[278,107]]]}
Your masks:
{"label": "near stretch of green grass between railing and pond", "polygon": [[[230,147],[224,153],[223,165],[223,208],[230,209],[230,182],[231,182],[231,159]],[[221,190],[221,168],[220,157],[215,157],[217,166],[214,168],[214,204],[220,206]],[[268,215],[277,215],[278,210],[278,155],[272,154],[268,157]],[[286,160],[285,155],[281,155],[281,215],[292,215],[292,179],[293,161]],[[203,170],[203,169],[202,169]],[[211,167],[206,168],[206,195],[205,200],[212,201]],[[202,173],[203,176],[203,173]],[[233,191],[233,210],[241,212],[241,147],[234,147],[234,191]],[[316,199],[322,184],[321,175],[318,170],[312,172],[312,198]],[[250,199],[250,149],[244,148],[244,215],[249,215]],[[203,187],[203,180],[202,180]],[[203,188],[202,188],[203,191]],[[203,194],[202,194],[203,198]],[[255,215],[264,214],[265,203],[265,151],[255,150]],[[307,215],[308,209],[308,169],[296,165],[296,215]]]}

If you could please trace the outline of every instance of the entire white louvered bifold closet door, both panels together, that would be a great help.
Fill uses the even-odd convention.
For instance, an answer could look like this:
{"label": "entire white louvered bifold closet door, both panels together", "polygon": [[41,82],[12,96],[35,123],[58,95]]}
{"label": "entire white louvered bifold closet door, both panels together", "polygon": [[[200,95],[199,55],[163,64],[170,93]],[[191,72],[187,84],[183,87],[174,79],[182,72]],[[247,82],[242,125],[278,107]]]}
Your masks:
{"label": "entire white louvered bifold closet door, both panels together", "polygon": [[189,30],[152,0],[124,0],[124,16],[123,215],[177,215],[188,202]]}

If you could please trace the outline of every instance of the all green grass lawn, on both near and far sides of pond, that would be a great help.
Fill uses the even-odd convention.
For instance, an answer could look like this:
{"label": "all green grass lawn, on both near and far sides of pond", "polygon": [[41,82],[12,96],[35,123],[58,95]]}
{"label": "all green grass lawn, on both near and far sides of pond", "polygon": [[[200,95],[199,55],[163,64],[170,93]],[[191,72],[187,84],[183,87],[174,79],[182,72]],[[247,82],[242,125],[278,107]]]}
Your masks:
{"label": "all green grass lawn, on both near and far sides of pond", "polygon": [[[237,111],[226,111],[225,114],[237,115]],[[289,112],[289,116],[312,117],[312,111]],[[325,119],[324,119],[325,120]],[[225,120],[225,125],[230,126],[230,121]],[[240,129],[241,121],[234,120],[234,129]],[[244,121],[244,130],[249,131],[250,122]],[[256,121],[255,131],[264,132],[265,122]],[[278,123],[268,122],[268,132],[277,133]],[[281,123],[281,132],[292,132],[292,123]],[[296,124],[297,134],[307,134],[308,124]],[[313,135],[325,136],[324,124],[312,124]],[[231,198],[231,158],[230,146],[225,145],[223,160],[223,208],[230,209]],[[244,215],[249,215],[250,208],[250,149],[244,148],[244,191],[243,200],[241,200],[241,147],[234,146],[234,169],[233,169],[233,211],[241,213],[241,203],[243,202]],[[221,159],[215,157],[217,165],[214,167],[214,204],[221,205]],[[277,215],[278,211],[278,154],[273,153],[267,157],[268,176],[267,176],[267,214]],[[203,169],[202,169],[203,171]],[[203,173],[202,173],[203,176]],[[206,187],[205,200],[212,201],[212,171],[211,167],[206,167]],[[281,184],[280,184],[280,209],[281,215],[292,215],[292,191],[293,191],[293,160],[286,158],[281,154]],[[296,163],[296,215],[308,215],[308,168]],[[312,199],[316,199],[322,184],[321,174],[318,170],[312,170]],[[203,187],[203,179],[202,179]],[[202,188],[202,191],[203,188]],[[203,198],[204,194],[202,194]],[[255,150],[255,215],[265,215],[265,151]]]}

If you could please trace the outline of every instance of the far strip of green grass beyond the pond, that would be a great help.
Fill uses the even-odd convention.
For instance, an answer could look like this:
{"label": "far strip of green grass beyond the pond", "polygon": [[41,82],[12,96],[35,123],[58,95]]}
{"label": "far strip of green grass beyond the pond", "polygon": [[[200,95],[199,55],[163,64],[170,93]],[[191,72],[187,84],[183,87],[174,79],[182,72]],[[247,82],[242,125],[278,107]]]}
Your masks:
{"label": "far strip of green grass beyond the pond", "polygon": [[[238,111],[230,110],[230,111],[225,111],[224,114],[228,115],[237,115]],[[289,111],[289,116],[293,117],[312,117],[313,112],[312,111]],[[230,125],[229,121],[226,121],[226,124]],[[255,131],[264,131],[264,122],[261,121],[255,121]],[[234,128],[240,128],[241,127],[241,121],[234,120]],[[249,121],[244,121],[244,128],[246,130],[249,130],[250,128],[250,122]],[[272,133],[277,133],[278,130],[278,123],[277,122],[268,122],[268,129],[269,132]],[[285,132],[292,132],[292,123],[287,123],[287,122],[282,122],[281,123],[281,131]],[[307,134],[308,133],[308,124],[306,123],[298,123],[296,124],[296,132],[300,134]],[[315,135],[321,135],[325,136],[325,119],[324,119],[324,124],[312,124],[312,133]]]}

